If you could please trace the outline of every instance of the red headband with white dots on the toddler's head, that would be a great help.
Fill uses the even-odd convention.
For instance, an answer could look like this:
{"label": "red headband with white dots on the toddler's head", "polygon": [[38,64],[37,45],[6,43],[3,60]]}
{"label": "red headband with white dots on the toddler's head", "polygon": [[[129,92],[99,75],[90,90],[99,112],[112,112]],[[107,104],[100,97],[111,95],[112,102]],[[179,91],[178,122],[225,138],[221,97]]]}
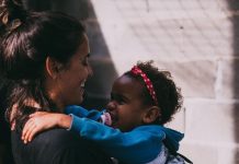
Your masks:
{"label": "red headband with white dots on the toddler's head", "polygon": [[158,99],[157,99],[157,97],[156,97],[155,89],[153,89],[153,86],[152,86],[151,81],[150,81],[150,80],[148,79],[148,77],[146,75],[146,73],[144,73],[137,66],[134,66],[134,67],[132,68],[132,73],[134,73],[134,74],[139,74],[139,75],[143,78],[143,80],[144,80],[144,82],[145,82],[145,84],[146,84],[146,86],[147,86],[147,89],[148,89],[148,91],[149,91],[149,94],[151,95],[151,97],[152,97],[155,104],[158,105]]}

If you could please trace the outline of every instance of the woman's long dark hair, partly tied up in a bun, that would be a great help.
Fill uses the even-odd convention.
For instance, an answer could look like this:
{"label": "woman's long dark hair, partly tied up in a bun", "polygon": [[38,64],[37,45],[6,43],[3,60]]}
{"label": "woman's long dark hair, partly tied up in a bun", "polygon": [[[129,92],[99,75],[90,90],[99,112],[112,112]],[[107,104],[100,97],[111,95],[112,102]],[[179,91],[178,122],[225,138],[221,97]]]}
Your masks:
{"label": "woman's long dark hair, partly tied up in a bun", "polygon": [[78,20],[66,14],[30,12],[20,0],[0,2],[0,73],[11,83],[7,117],[21,129],[29,113],[34,112],[25,101],[42,106],[35,110],[50,110],[42,86],[46,58],[67,66],[86,31]]}

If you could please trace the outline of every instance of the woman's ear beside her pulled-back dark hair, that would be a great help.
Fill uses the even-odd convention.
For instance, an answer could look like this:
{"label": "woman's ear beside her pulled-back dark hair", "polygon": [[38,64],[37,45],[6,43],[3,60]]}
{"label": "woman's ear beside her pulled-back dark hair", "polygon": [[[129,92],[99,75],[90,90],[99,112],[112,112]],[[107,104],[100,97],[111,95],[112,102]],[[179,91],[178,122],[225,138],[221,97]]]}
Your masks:
{"label": "woman's ear beside her pulled-back dark hair", "polygon": [[54,58],[50,57],[46,58],[46,63],[45,63],[46,72],[53,79],[57,78],[57,73],[59,71],[57,66],[58,66],[57,61]]}

